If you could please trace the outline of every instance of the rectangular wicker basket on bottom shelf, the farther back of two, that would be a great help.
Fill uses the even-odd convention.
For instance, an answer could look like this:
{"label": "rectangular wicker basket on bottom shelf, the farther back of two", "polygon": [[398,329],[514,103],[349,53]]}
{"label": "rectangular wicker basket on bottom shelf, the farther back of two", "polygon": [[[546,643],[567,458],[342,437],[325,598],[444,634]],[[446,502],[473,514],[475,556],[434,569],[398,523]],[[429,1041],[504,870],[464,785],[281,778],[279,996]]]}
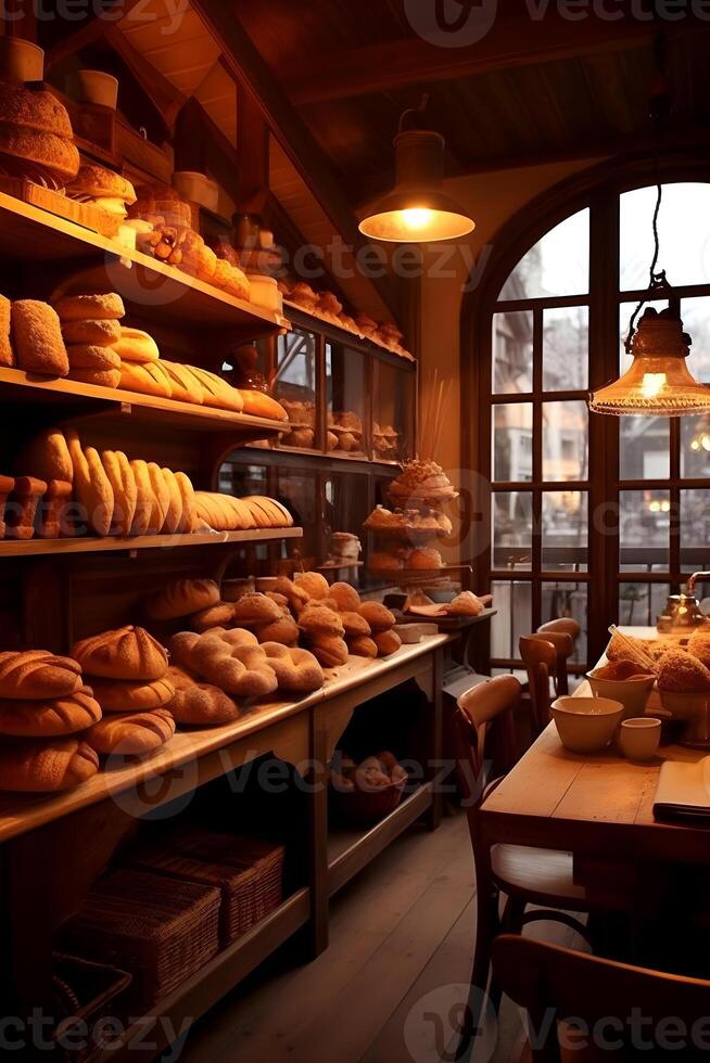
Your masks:
{"label": "rectangular wicker basket on bottom shelf, the farther back of two", "polygon": [[162,846],[140,849],[134,867],[221,892],[219,937],[229,945],[279,907],[283,847],[229,834],[185,830]]}

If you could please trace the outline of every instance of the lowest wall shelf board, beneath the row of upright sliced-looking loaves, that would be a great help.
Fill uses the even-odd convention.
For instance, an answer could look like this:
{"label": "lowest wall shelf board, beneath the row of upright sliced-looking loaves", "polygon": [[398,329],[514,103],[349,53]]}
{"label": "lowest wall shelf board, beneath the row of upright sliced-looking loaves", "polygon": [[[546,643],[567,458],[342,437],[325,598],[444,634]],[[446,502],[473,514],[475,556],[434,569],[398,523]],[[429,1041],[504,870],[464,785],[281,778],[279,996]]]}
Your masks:
{"label": "lowest wall shelf board, beneath the row of upright sliced-looking loaves", "polygon": [[303,528],[256,528],[252,532],[208,532],[192,535],[144,535],[134,539],[29,539],[0,542],[2,558],[38,558],[71,553],[132,553],[135,550],[174,550],[178,547],[220,547],[240,542],[302,539]]}

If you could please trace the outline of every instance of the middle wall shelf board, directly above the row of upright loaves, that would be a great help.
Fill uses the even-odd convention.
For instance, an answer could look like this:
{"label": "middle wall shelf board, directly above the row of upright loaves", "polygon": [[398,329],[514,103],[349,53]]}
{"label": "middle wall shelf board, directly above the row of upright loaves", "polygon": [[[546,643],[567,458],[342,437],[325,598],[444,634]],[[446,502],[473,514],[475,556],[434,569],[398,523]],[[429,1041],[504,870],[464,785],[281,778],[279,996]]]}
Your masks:
{"label": "middle wall shelf board, directly above the row of upright loaves", "polygon": [[72,412],[78,410],[79,414],[81,407],[85,407],[86,412],[98,411],[106,417],[130,417],[149,423],[174,424],[176,427],[195,432],[229,433],[239,441],[254,443],[289,431],[289,425],[281,421],[177,402],[175,399],[157,398],[141,392],[125,392],[66,379],[38,376],[22,369],[0,368],[0,397],[3,401],[14,399],[45,406],[71,405]]}

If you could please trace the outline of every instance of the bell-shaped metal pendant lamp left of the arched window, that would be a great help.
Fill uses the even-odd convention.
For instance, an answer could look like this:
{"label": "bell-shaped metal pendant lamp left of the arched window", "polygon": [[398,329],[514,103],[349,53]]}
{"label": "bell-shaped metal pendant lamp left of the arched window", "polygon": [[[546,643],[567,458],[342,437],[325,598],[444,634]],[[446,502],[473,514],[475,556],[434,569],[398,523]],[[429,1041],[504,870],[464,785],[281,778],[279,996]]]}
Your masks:
{"label": "bell-shaped metal pendant lamp left of the arched window", "polygon": [[360,232],[371,240],[417,244],[472,232],[476,222],[444,192],[444,138],[416,129],[400,133],[394,146],[396,187],[360,221]]}

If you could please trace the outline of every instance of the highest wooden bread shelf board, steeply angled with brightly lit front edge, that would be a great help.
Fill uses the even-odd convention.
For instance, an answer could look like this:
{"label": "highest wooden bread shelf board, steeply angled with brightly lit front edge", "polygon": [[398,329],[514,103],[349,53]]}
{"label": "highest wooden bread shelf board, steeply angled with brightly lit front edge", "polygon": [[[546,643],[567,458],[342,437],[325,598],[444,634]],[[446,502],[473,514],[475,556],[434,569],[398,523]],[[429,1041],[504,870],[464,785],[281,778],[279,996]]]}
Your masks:
{"label": "highest wooden bread shelf board, steeply angled with brightly lit front edge", "polygon": [[86,266],[93,256],[100,262],[94,280],[105,279],[105,291],[118,292],[143,317],[168,316],[172,323],[201,329],[228,328],[234,340],[240,335],[254,340],[289,328],[281,315],[236,299],[173,266],[2,192],[0,251],[16,261],[62,262],[65,272],[73,259]]}

